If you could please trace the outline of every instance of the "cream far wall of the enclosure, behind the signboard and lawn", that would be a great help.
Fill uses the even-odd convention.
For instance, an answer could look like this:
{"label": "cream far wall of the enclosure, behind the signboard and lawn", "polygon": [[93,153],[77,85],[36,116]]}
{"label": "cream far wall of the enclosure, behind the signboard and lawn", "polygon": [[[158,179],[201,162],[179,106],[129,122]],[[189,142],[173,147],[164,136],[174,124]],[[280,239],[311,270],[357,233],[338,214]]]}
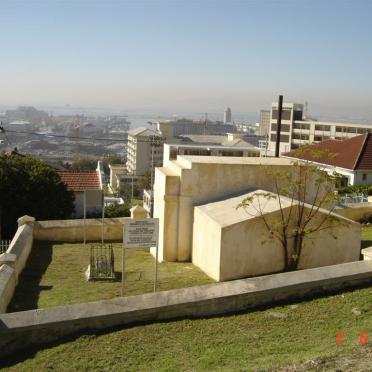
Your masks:
{"label": "cream far wall of the enclosure, behind the signboard and lawn", "polygon": [[[131,220],[129,217],[105,218],[104,237],[105,240],[123,240],[123,224]],[[101,240],[102,220],[55,220],[37,221],[34,227],[35,240],[81,242],[84,240],[84,230],[87,240]]]}

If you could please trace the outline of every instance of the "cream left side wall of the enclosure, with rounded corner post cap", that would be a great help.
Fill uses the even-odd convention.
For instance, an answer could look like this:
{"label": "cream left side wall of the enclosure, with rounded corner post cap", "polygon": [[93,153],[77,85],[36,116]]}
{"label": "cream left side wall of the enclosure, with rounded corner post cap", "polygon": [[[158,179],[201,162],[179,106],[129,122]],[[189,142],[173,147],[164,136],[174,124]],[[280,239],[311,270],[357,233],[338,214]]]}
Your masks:
{"label": "cream left side wall of the enclosure, with rounded corner post cap", "polygon": [[0,313],[5,313],[11,301],[18,278],[26,266],[33,243],[33,219],[26,216],[18,220],[15,233],[6,253],[0,255]]}

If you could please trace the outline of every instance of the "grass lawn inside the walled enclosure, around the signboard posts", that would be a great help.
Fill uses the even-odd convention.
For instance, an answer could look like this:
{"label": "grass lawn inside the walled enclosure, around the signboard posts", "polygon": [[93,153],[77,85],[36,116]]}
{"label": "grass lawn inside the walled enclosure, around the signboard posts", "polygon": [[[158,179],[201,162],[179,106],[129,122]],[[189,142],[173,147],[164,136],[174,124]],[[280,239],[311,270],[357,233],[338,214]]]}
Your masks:
{"label": "grass lawn inside the walled enclosure, around the signboard posts", "polygon": [[[35,242],[8,312],[99,301],[120,296],[121,244],[115,243],[115,281],[87,282],[89,244]],[[126,250],[125,295],[153,290],[154,257],[148,249]],[[158,265],[158,290],[214,282],[191,263]]]}

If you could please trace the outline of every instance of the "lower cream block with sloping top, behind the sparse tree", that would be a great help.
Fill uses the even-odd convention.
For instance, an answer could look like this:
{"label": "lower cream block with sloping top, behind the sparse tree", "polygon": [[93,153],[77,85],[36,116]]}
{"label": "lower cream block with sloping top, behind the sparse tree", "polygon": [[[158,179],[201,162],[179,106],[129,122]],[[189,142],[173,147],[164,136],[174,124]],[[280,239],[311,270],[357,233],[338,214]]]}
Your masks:
{"label": "lower cream block with sloping top, behind the sparse tree", "polygon": [[[237,206],[245,197],[267,193],[265,190],[228,197],[194,208],[192,262],[218,281],[239,279],[283,271],[284,251],[279,241],[270,239],[260,213],[274,222],[280,218],[277,199],[256,196],[247,209]],[[256,205],[254,205],[256,204]],[[291,201],[281,197],[282,211],[288,216]],[[311,209],[307,205],[308,210]],[[312,221],[317,225],[329,211],[321,209]],[[292,214],[293,216],[294,214]],[[360,256],[360,226],[344,217],[331,214],[328,229],[318,231],[305,239],[300,269],[309,269],[350,261]],[[294,222],[294,218],[292,218]],[[343,220],[345,223],[339,223]],[[334,236],[343,239],[334,239]],[[289,244],[293,244],[290,241]]]}

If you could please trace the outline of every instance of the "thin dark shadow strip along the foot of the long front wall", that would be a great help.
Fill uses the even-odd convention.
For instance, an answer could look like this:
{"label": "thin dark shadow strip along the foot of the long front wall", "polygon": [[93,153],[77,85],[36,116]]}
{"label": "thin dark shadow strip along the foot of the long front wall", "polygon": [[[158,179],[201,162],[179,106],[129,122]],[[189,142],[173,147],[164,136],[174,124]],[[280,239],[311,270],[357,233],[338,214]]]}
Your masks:
{"label": "thin dark shadow strip along the foot of the long front wall", "polygon": [[[180,317],[174,317],[171,319],[167,320],[156,320],[156,321],[138,321],[138,322],[133,322],[132,324],[129,325],[118,325],[114,327],[107,327],[105,329],[96,329],[96,330],[81,330],[76,333],[62,336],[58,340],[55,341],[49,341],[49,342],[44,342],[36,345],[32,345],[28,347],[27,349],[22,349],[22,352],[14,352],[11,355],[7,357],[0,357],[0,366],[2,367],[11,367],[14,366],[18,363],[21,363],[27,359],[33,358],[36,353],[40,350],[46,349],[46,348],[52,348],[56,347],[58,345],[67,343],[67,342],[73,342],[77,340],[78,338],[85,336],[85,337],[97,337],[97,336],[102,336],[108,333],[112,332],[118,332],[122,331],[125,329],[131,329],[134,327],[138,326],[143,326],[146,324],[153,324],[153,323],[161,323],[161,324],[167,324],[167,323],[174,323],[177,321],[185,320],[185,319],[213,319],[213,318],[226,318],[228,319],[229,317],[236,316],[236,315],[242,315],[242,314],[248,314],[248,313],[256,313],[260,311],[265,311],[270,308],[276,307],[276,306],[285,306],[285,305],[291,305],[291,304],[301,304],[301,303],[306,303],[310,302],[316,299],[320,298],[327,298],[327,297],[332,297],[339,295],[341,293],[348,293],[348,292],[353,292],[356,290],[364,289],[364,288],[369,288],[372,286],[372,281],[369,281],[368,283],[363,283],[360,285],[355,285],[352,287],[346,287],[343,289],[334,289],[331,291],[328,291],[326,293],[308,293],[302,298],[288,298],[286,300],[281,300],[281,301],[273,301],[272,303],[265,304],[265,305],[260,305],[260,306],[252,306],[243,310],[239,311],[231,311],[223,314],[215,314],[215,315],[209,315],[209,316],[180,316]],[[319,290],[319,288],[318,288]]]}

